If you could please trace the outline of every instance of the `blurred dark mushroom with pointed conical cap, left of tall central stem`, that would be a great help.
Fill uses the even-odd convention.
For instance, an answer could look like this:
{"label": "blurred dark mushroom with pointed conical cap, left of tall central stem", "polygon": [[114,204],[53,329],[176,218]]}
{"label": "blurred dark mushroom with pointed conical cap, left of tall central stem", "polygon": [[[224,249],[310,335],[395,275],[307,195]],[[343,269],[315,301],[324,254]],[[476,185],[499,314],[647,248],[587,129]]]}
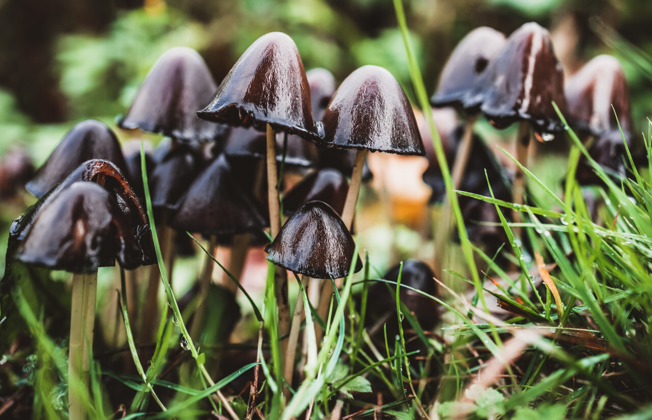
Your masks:
{"label": "blurred dark mushroom with pointed conical cap, left of tall central stem", "polygon": [[[249,197],[235,183],[230,164],[224,155],[220,155],[190,185],[172,226],[181,231],[200,232],[205,237],[209,237],[207,249],[210,252],[215,249],[217,235],[243,236],[243,239],[234,239],[234,244],[239,245],[239,248],[232,248],[233,258],[228,267],[235,278],[240,278],[249,243],[249,233],[266,228],[269,226],[269,221],[258,211],[254,198]],[[200,277],[200,296],[208,293],[212,273],[213,260],[207,255]],[[223,286],[235,299],[237,285],[228,280]],[[200,332],[205,302],[205,300],[201,301],[194,315],[191,335],[195,337]]]}

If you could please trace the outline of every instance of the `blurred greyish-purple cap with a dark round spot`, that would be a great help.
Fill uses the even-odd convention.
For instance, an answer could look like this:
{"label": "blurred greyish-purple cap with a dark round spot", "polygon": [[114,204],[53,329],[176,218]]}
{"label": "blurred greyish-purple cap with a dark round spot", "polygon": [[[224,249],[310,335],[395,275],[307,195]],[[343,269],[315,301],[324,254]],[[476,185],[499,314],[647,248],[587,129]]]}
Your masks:
{"label": "blurred greyish-purple cap with a dark round spot", "polygon": [[490,27],[473,29],[455,47],[441,70],[437,91],[430,103],[437,108],[454,106],[467,113],[479,111],[480,103],[472,102],[471,93],[489,62],[505,44],[505,35]]}

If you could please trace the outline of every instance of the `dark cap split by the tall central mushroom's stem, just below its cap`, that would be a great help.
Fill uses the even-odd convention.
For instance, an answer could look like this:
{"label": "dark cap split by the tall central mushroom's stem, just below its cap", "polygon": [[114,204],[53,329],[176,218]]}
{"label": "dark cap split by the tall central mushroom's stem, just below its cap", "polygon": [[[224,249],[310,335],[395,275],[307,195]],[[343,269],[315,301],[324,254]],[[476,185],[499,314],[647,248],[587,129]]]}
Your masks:
{"label": "dark cap split by the tall central mushroom's stem, just below its cap", "polygon": [[[276,134],[276,160],[283,158],[283,142],[285,133]],[[228,157],[255,157],[264,159],[267,156],[267,139],[265,133],[252,127],[235,127],[224,147]],[[303,138],[289,134],[288,149],[285,162],[291,166],[312,166],[317,160],[317,146],[306,142]]]}

